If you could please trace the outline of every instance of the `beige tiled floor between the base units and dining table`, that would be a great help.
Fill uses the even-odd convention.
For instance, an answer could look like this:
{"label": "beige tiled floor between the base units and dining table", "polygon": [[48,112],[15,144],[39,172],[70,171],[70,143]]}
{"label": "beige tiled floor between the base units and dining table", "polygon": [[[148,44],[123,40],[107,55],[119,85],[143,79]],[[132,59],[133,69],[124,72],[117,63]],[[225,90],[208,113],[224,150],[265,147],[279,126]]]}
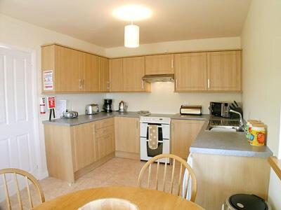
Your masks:
{"label": "beige tiled floor between the base units and dining table", "polygon": [[[41,187],[43,188],[44,195],[46,201],[52,200],[55,197],[60,195],[65,195],[67,193],[71,193],[77,190],[83,190],[86,188],[98,188],[102,186],[136,186],[138,181],[138,174],[141,171],[141,168],[145,165],[145,162],[141,162],[140,160],[129,160],[123,158],[113,158],[112,160],[106,162],[104,165],[94,169],[93,171],[85,174],[81,178],[77,179],[77,181],[72,185],[69,186],[66,181],[61,181],[59,179],[48,177],[39,181]],[[156,164],[152,167],[152,176],[155,176],[155,168]],[[148,171],[148,170],[147,170]],[[163,174],[164,165],[160,165],[160,172]],[[176,170],[177,172],[179,170]],[[178,181],[178,173],[175,174],[175,183],[174,183],[174,190],[177,188],[177,181]],[[145,174],[145,177],[148,177]],[[167,174],[166,174],[166,183],[171,183],[171,166],[168,167]],[[161,179],[162,181],[162,179]],[[143,185],[147,183],[147,179],[143,180]],[[155,180],[152,181],[151,187],[155,186]],[[162,183],[159,183],[159,186],[162,188]],[[150,188],[151,188],[150,187]],[[166,191],[169,188],[166,188]],[[32,194],[34,190],[32,190]],[[25,190],[21,192],[23,206],[25,209],[28,209],[28,197]],[[37,195],[34,193],[34,203],[38,204],[39,201]],[[13,209],[18,209],[17,205],[17,197],[11,197],[12,207]],[[2,202],[0,204],[0,209],[5,209],[6,203]]]}

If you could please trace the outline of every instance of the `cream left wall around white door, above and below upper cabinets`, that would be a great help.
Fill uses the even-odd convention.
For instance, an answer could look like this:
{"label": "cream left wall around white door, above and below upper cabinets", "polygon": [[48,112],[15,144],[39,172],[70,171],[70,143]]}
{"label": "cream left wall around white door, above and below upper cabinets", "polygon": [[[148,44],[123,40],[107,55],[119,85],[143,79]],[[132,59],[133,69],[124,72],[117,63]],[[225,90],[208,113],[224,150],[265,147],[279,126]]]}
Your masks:
{"label": "cream left wall around white door, above and below upper cabinets", "polygon": [[[55,31],[50,31],[41,27],[30,25],[27,22],[15,20],[6,15],[0,14],[0,43],[14,45],[20,48],[27,48],[34,50],[36,53],[36,69],[37,69],[37,102],[39,103],[39,97],[41,96],[41,48],[40,45],[45,43],[61,43],[69,45],[74,48],[86,50],[89,52],[95,52],[99,55],[105,55],[105,49],[100,48],[91,43],[80,41],[77,38],[72,38],[64,34],[59,34]],[[70,107],[79,113],[84,113],[84,107],[89,103],[101,103],[105,94],[63,94],[56,95],[57,99],[67,99],[70,103]],[[38,112],[37,112],[38,113]],[[39,113],[38,113],[39,114]],[[46,176],[46,157],[45,157],[45,144],[44,144],[44,130],[41,124],[42,120],[46,120],[48,114],[39,115],[39,140],[40,140],[40,152],[41,157],[39,160],[39,177]]]}

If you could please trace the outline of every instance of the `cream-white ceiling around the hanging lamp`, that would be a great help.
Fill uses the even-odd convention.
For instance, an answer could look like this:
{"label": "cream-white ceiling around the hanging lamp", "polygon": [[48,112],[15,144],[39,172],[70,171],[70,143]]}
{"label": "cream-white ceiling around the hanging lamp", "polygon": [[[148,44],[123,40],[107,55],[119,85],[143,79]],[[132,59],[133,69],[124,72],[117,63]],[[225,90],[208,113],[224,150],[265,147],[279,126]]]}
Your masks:
{"label": "cream-white ceiling around the hanging lamp", "polygon": [[251,0],[0,0],[0,13],[105,48],[124,45],[124,26],[112,10],[140,4],[152,10],[140,43],[240,36]]}

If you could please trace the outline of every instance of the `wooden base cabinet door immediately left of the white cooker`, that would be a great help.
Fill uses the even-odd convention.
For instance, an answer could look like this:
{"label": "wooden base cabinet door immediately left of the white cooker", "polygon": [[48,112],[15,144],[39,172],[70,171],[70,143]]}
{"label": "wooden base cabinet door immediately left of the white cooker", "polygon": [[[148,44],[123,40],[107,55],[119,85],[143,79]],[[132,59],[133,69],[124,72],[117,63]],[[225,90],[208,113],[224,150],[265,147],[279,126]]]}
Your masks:
{"label": "wooden base cabinet door immediately left of the white cooker", "polygon": [[138,118],[115,118],[116,151],[140,153]]}

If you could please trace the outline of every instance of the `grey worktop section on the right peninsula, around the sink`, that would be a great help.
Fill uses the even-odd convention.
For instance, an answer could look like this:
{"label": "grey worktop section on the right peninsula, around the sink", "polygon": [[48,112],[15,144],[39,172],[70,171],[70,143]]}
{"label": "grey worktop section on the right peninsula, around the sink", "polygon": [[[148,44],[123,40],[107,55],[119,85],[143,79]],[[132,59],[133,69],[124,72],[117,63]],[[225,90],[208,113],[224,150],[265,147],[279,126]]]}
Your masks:
{"label": "grey worktop section on the right peninsula, around the sink", "polygon": [[191,144],[190,153],[259,158],[267,158],[273,155],[267,146],[251,146],[244,132],[205,131],[208,123],[209,121],[206,120],[202,130],[200,130],[195,141]]}

